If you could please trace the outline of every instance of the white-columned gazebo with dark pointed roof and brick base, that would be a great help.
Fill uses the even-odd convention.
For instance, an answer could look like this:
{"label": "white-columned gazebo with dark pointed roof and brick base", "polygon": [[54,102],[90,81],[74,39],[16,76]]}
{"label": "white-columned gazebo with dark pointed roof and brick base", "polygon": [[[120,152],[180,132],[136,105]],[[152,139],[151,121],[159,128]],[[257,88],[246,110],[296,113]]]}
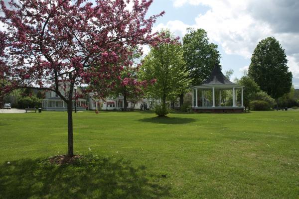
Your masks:
{"label": "white-columned gazebo with dark pointed roof and brick base", "polygon": [[244,86],[229,81],[215,65],[211,76],[192,87],[192,110],[195,112],[243,112]]}

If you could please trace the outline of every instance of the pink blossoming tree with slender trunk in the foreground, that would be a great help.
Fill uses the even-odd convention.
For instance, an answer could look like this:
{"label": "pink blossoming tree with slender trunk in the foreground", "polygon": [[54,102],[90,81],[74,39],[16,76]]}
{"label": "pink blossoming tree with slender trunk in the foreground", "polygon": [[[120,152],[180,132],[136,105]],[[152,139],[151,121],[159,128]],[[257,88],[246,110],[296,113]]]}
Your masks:
{"label": "pink blossoming tree with slender trunk in the foreground", "polygon": [[[0,0],[1,92],[35,88],[67,103],[68,155],[73,156],[74,87],[92,77],[114,80],[129,65],[128,48],[152,43],[151,28],[163,13],[145,18],[152,0]],[[123,63],[120,66],[118,63]],[[101,81],[113,88],[114,81]],[[96,84],[96,82],[93,82]],[[93,85],[95,86],[95,85]],[[61,90],[60,87],[63,87]],[[93,87],[91,87],[93,88]],[[94,89],[99,88],[97,86]],[[106,92],[97,90],[99,96]]]}

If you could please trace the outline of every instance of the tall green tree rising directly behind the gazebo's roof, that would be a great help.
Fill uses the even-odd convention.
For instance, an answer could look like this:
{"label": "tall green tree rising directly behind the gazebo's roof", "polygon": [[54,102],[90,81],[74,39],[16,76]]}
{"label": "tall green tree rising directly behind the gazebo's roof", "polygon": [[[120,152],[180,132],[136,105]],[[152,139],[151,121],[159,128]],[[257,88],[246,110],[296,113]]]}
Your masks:
{"label": "tall green tree rising directly behind the gazebo's roof", "polygon": [[187,29],[183,37],[183,55],[189,71],[192,85],[200,85],[205,81],[215,63],[220,63],[220,54],[217,45],[209,42],[207,32],[204,29]]}

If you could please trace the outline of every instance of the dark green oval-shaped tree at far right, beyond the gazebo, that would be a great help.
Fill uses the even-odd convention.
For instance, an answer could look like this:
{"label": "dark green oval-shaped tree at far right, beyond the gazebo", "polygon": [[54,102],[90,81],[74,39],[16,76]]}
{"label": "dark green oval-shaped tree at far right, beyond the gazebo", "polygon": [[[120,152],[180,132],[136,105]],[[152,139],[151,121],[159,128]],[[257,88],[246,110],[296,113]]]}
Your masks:
{"label": "dark green oval-shaped tree at far right, beyond the gazebo", "polygon": [[248,76],[274,99],[289,93],[292,73],[287,66],[285,50],[274,37],[259,42],[254,50]]}

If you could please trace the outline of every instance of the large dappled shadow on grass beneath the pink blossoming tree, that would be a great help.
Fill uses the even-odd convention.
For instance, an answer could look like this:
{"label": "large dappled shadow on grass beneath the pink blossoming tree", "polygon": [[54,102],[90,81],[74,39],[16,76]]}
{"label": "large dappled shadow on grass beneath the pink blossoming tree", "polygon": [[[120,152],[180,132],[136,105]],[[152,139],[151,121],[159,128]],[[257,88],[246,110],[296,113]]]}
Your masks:
{"label": "large dappled shadow on grass beneath the pink blossoming tree", "polygon": [[149,176],[145,169],[134,168],[124,160],[95,156],[60,166],[40,159],[5,162],[0,165],[0,198],[156,199],[168,196],[169,188],[159,185],[162,179]]}

